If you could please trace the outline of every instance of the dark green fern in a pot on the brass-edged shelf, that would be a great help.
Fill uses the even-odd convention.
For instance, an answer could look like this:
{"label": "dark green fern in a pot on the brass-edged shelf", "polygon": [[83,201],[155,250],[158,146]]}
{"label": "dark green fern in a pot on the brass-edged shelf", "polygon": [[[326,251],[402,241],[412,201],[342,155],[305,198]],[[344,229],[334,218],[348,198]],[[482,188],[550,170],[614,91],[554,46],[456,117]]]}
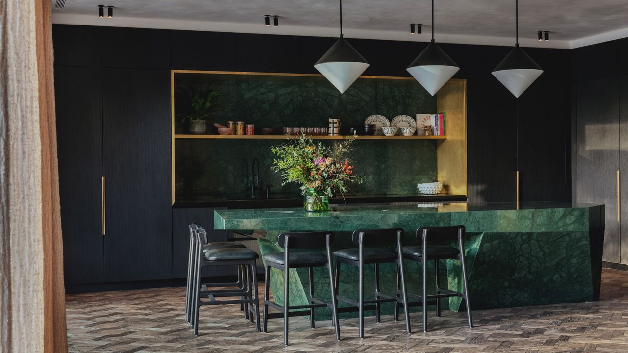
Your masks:
{"label": "dark green fern in a pot on the brass-edged shelf", "polygon": [[181,119],[183,122],[190,122],[190,133],[204,134],[207,131],[205,121],[210,117],[210,113],[219,106],[215,99],[220,95],[220,92],[205,86],[183,87],[181,90],[187,93],[191,103],[190,111],[181,114]]}

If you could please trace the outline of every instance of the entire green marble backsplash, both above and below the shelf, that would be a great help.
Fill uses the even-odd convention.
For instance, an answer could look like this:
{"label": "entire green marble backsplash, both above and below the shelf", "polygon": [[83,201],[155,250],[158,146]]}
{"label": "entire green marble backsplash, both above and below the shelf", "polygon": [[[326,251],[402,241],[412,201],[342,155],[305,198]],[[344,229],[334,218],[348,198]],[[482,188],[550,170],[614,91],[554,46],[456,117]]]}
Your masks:
{"label": "entire green marble backsplash, both above and below the shelf", "polygon": [[[221,92],[219,109],[208,121],[243,120],[261,128],[326,127],[328,118],[342,121],[343,131],[361,128],[367,116],[381,114],[392,120],[399,114],[436,111],[436,99],[414,80],[358,79],[340,94],[322,77],[259,76],[176,73],[175,87],[207,85]],[[189,105],[184,94],[175,94],[175,113]],[[176,133],[188,127],[175,121]],[[281,132],[279,132],[281,134]],[[271,146],[284,140],[177,139],[175,142],[176,200],[212,197],[251,197],[251,163],[259,160],[260,181],[273,185],[271,194],[298,195],[297,185],[281,187],[273,165]],[[332,143],[332,141],[325,141]],[[416,193],[416,183],[436,181],[435,140],[358,140],[350,158],[364,183],[351,192],[369,194]],[[262,190],[260,195],[264,195]]]}

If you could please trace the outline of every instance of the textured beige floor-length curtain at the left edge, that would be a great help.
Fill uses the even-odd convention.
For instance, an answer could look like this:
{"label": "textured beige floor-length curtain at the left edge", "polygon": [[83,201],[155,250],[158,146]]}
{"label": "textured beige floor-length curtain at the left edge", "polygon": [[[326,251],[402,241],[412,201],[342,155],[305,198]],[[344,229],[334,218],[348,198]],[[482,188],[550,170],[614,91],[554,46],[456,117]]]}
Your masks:
{"label": "textured beige floor-length curtain at the left edge", "polygon": [[0,0],[0,352],[67,352],[50,0]]}

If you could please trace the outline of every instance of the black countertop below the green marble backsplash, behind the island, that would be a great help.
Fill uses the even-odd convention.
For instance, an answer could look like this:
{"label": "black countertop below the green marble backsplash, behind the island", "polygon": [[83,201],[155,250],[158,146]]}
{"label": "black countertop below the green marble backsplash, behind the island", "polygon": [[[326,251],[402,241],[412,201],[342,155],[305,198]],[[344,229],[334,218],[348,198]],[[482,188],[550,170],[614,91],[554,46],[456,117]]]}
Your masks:
{"label": "black countertop below the green marble backsplash, behind the island", "polygon": [[[466,201],[466,195],[450,195],[438,193],[436,195],[345,195],[345,197],[332,197],[330,204],[389,204],[394,202],[452,202]],[[172,206],[173,209],[198,209],[198,208],[222,208],[227,209],[277,209],[284,207],[303,206],[303,197],[300,195],[277,196],[271,198],[211,198],[205,197],[200,200],[177,201]]]}

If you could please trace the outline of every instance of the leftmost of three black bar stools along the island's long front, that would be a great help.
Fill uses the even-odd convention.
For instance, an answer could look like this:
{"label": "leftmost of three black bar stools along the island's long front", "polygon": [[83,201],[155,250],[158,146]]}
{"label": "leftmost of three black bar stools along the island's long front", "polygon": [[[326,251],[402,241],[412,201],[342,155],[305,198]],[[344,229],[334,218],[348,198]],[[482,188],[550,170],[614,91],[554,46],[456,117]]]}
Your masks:
{"label": "leftmost of three black bar stools along the island's long front", "polygon": [[[288,324],[290,317],[310,315],[310,327],[315,326],[314,309],[328,307],[332,309],[332,325],[335,328],[336,339],[340,340],[340,326],[338,324],[338,303],[334,293],[332,250],[333,233],[330,232],[300,232],[279,234],[278,244],[283,247],[283,253],[274,253],[264,256],[266,261],[266,285],[264,286],[264,332],[268,332],[268,319],[283,317],[283,344],[288,345]],[[315,249],[325,247],[327,255],[318,251],[294,251],[290,249],[298,247],[302,249]],[[283,271],[284,305],[278,305],[269,300],[269,284],[271,279],[271,267]],[[329,271],[330,291],[332,303],[326,303],[314,297],[313,268],[325,267]],[[310,305],[290,306],[290,269],[308,268],[308,286],[310,293],[308,301]],[[269,313],[268,307],[279,310],[279,313]],[[300,310],[309,309],[309,310]],[[299,310],[290,312],[290,310]]]}

